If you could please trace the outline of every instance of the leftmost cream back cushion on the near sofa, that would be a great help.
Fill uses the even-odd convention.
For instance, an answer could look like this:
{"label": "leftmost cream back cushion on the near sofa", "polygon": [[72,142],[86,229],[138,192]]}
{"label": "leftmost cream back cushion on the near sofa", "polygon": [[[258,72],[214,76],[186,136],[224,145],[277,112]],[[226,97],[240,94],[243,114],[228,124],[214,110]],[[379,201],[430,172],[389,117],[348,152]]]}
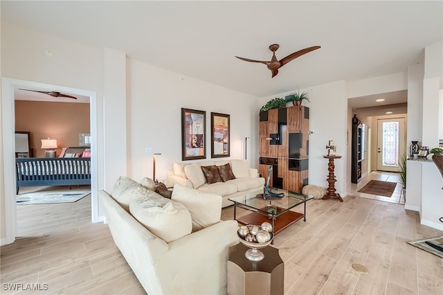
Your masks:
{"label": "leftmost cream back cushion on the near sofa", "polygon": [[120,206],[129,212],[129,202],[131,201],[132,195],[136,193],[146,195],[147,189],[129,177],[122,176],[114,185],[111,196],[117,201],[118,204],[120,204]]}

